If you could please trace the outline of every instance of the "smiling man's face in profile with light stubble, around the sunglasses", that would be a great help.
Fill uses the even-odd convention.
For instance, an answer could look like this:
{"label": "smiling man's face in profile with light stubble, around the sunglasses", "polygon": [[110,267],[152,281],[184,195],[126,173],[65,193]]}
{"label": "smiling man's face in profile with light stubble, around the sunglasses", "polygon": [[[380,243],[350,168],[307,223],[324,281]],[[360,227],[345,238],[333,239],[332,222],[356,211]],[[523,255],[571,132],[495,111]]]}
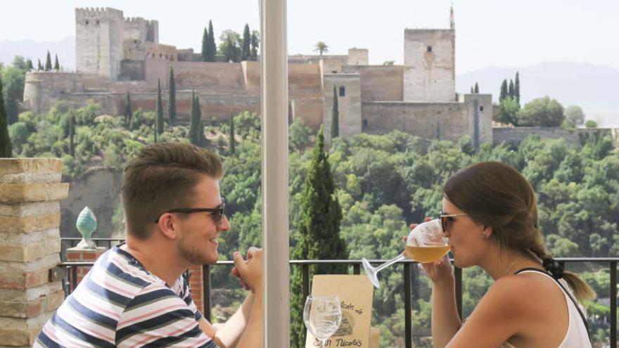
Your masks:
{"label": "smiling man's face in profile with light stubble, around the sunglasses", "polygon": [[[219,195],[219,181],[203,175],[194,188],[190,208],[215,208],[222,204]],[[181,236],[177,244],[180,257],[191,264],[215,264],[219,259],[217,237],[219,232],[228,231],[230,222],[224,217],[221,224],[212,218],[212,212],[187,214],[181,222]]]}

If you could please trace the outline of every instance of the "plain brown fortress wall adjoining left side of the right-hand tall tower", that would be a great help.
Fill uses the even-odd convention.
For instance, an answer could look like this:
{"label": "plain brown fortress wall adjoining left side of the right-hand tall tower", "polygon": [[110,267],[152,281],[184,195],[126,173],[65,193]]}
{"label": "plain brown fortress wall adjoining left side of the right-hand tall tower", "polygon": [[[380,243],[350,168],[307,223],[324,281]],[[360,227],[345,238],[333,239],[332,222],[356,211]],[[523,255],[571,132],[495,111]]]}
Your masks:
{"label": "plain brown fortress wall adjoining left side of the right-hand tall tower", "polygon": [[346,65],[343,71],[361,75],[362,101],[402,101],[402,65]]}

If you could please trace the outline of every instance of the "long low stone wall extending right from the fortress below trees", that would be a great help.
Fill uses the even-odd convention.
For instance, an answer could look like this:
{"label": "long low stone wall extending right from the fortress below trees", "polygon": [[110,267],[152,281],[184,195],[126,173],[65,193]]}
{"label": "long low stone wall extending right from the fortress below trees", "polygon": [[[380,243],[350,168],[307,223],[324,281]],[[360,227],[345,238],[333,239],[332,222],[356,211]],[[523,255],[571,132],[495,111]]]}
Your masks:
{"label": "long low stone wall extending right from the fortress below trees", "polygon": [[524,138],[531,134],[539,135],[542,139],[563,139],[566,143],[580,146],[581,138],[594,138],[611,136],[613,140],[619,138],[619,129],[611,128],[578,128],[568,131],[566,129],[552,127],[513,127],[492,129],[494,145],[505,142],[518,145]]}

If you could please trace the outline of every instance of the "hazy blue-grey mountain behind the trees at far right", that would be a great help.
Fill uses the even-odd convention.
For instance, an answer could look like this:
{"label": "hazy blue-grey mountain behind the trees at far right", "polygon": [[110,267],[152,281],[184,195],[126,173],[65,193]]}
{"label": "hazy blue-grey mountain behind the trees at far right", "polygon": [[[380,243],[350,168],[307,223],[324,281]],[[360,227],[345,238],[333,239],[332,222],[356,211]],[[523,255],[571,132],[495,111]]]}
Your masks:
{"label": "hazy blue-grey mountain behind the trees at far right", "polygon": [[580,105],[587,119],[602,127],[619,127],[619,70],[608,65],[544,62],[529,67],[486,67],[456,78],[456,89],[468,93],[475,82],[480,93],[492,93],[496,102],[503,79],[520,72],[521,101],[541,96],[555,98],[563,107]]}

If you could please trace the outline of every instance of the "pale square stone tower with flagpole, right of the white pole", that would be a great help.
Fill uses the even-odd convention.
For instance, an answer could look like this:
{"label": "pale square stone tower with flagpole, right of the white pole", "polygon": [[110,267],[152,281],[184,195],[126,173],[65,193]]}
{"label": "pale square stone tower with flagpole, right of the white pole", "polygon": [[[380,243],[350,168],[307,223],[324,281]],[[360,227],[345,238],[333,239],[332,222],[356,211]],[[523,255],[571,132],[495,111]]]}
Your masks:
{"label": "pale square stone tower with flagpole, right of the white pole", "polygon": [[456,100],[456,31],[404,30],[404,101]]}

